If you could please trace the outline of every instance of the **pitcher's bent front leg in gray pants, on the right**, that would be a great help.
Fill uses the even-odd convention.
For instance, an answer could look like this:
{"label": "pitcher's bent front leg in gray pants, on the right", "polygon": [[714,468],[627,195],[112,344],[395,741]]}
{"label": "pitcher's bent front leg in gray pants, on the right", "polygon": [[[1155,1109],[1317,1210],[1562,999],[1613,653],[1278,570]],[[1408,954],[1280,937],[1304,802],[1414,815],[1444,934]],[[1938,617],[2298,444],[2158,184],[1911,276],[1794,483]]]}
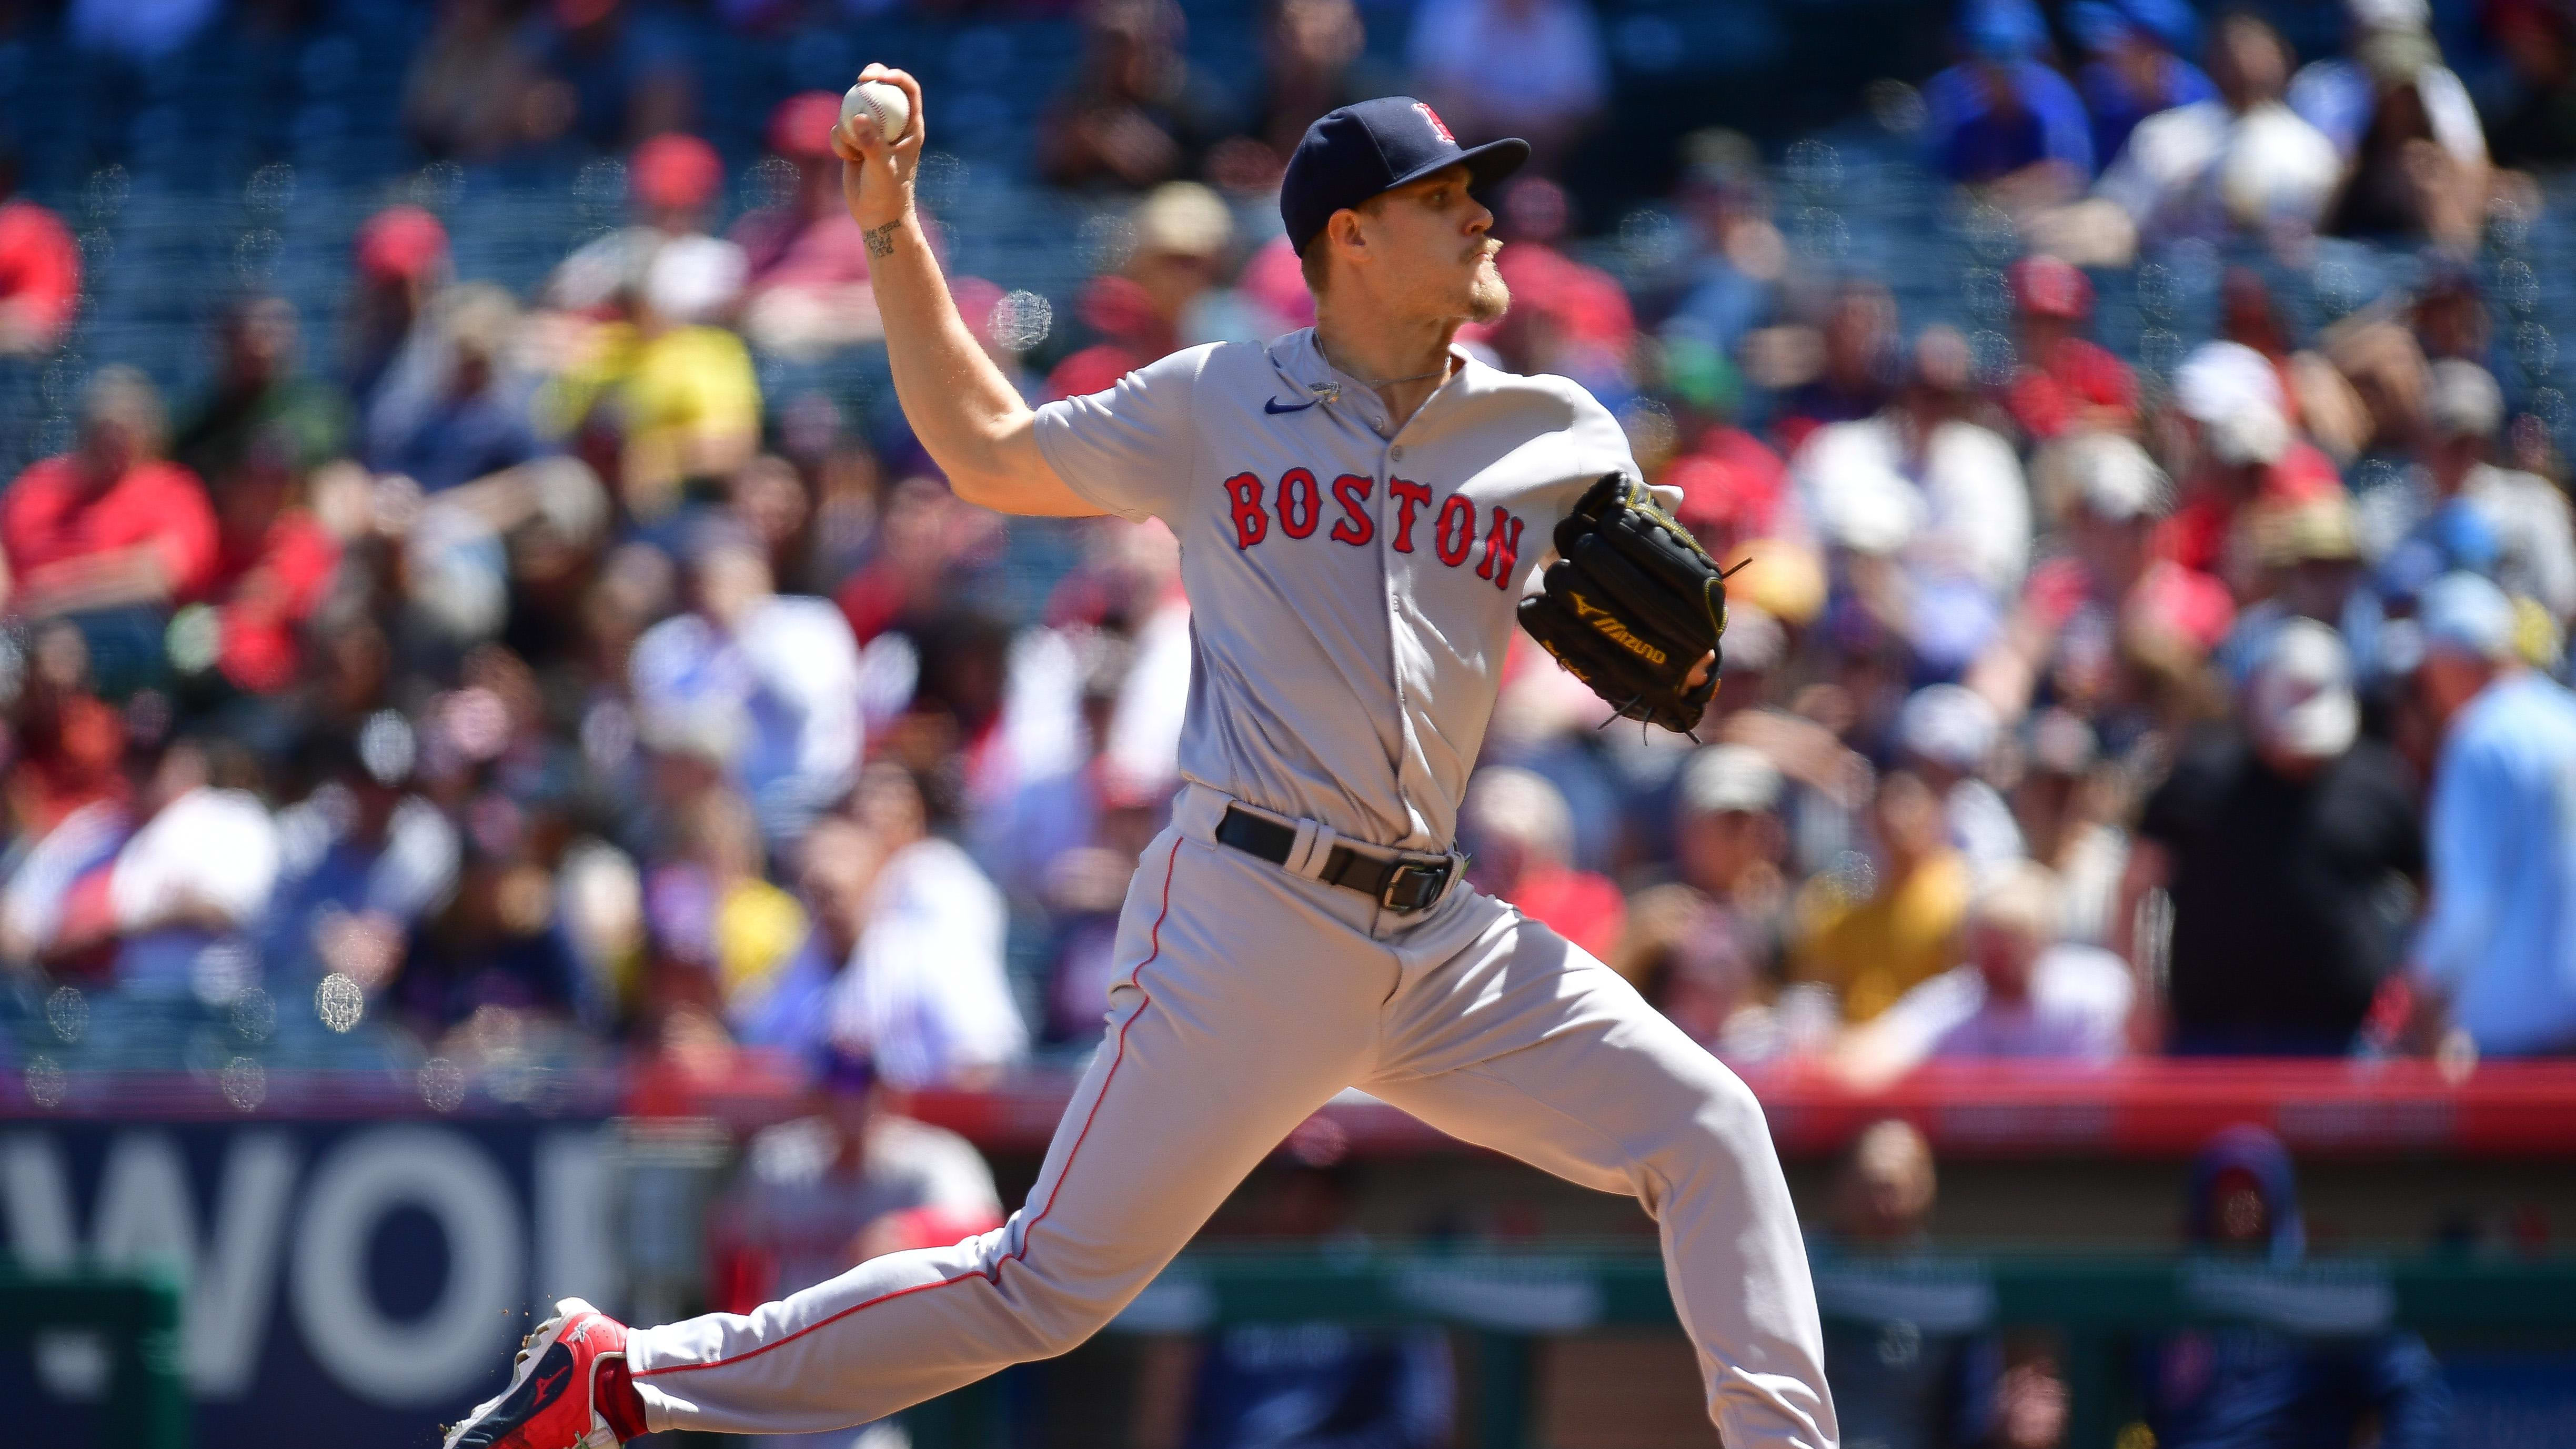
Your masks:
{"label": "pitcher's bent front leg in gray pants, on the right", "polygon": [[1406,969],[1386,1070],[1360,1085],[1646,1204],[1728,1449],[1834,1446],[1816,1289],[1762,1106],[1610,967],[1497,908],[1463,951]]}

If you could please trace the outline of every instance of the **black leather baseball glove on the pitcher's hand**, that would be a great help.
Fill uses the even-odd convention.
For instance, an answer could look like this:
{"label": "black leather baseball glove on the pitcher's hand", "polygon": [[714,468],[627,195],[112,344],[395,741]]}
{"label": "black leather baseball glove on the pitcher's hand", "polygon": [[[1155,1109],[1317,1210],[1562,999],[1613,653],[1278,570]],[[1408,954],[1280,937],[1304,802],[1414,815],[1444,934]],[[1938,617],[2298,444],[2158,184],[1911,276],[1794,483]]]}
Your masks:
{"label": "black leather baseball glove on the pitcher's hand", "polygon": [[1685,681],[1726,634],[1726,572],[1646,485],[1602,474],[1556,526],[1561,554],[1520,627],[1628,719],[1687,735],[1718,694],[1718,668]]}

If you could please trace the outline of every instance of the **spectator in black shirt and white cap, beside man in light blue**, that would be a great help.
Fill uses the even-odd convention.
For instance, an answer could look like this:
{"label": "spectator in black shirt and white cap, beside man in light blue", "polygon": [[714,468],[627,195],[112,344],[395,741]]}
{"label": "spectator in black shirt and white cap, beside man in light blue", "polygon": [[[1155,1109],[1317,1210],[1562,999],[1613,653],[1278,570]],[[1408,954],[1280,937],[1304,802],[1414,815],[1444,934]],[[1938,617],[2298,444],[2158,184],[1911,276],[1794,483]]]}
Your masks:
{"label": "spectator in black shirt and white cap, beside man in light blue", "polygon": [[[2174,902],[2164,1047],[2179,1055],[2344,1055],[2396,962],[2403,877],[2424,871],[2406,766],[2357,737],[2344,639],[2272,629],[2241,722],[2184,740],[2146,799],[2115,941],[2136,900]],[[2130,962],[2143,949],[2130,944]],[[2141,1024],[2151,1031],[2154,1024]]]}

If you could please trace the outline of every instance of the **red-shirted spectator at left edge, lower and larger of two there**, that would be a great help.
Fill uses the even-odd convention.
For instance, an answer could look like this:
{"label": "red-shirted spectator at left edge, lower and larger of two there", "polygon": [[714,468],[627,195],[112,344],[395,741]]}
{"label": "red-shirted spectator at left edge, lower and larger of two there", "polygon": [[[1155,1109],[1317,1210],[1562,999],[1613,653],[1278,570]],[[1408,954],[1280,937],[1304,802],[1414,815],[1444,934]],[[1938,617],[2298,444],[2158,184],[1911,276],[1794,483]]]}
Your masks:
{"label": "red-shirted spectator at left edge, lower and larger of two there", "polygon": [[80,443],[31,464],[0,498],[10,614],[157,608],[206,588],[214,508],[160,446],[162,407],[144,374],[100,369],[82,397]]}

